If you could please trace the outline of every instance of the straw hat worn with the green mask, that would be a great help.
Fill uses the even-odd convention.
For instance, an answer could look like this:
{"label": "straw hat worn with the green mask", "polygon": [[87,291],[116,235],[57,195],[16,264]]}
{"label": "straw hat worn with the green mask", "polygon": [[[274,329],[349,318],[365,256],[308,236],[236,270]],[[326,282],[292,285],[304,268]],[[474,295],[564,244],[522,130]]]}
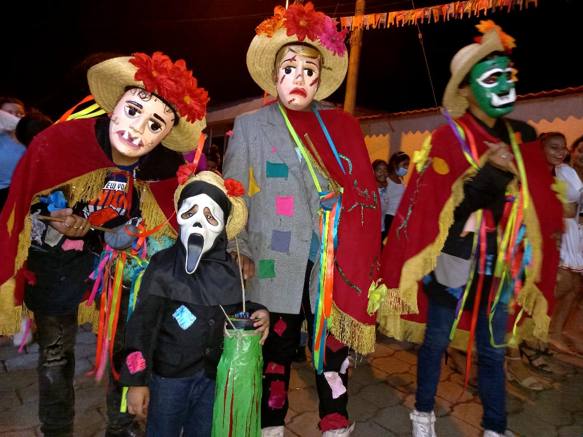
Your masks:
{"label": "straw hat worn with the green mask", "polygon": [[468,100],[459,95],[458,89],[472,67],[492,52],[506,51],[510,54],[516,47],[514,38],[505,34],[492,20],[480,21],[476,27],[483,32],[481,41],[461,48],[449,64],[451,78],[445,87],[442,105],[453,118],[461,117],[468,109]]}

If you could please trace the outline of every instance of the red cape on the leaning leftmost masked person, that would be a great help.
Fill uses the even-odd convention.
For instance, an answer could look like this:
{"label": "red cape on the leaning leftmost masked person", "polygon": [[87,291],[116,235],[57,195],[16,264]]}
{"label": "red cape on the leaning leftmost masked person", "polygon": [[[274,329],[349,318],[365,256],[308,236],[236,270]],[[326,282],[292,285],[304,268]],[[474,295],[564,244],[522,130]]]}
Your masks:
{"label": "red cape on the leaning leftmost masked person", "polygon": [[[89,118],[50,126],[34,138],[16,166],[8,199],[0,213],[0,298],[3,303],[7,302],[8,297],[1,295],[10,289],[14,297],[12,308],[2,305],[0,309],[0,332],[10,323],[6,318],[13,318],[13,308],[22,305],[26,262],[17,264],[19,259],[26,259],[30,245],[30,235],[20,236],[25,221],[30,220],[30,206],[38,201],[39,195],[48,195],[72,179],[116,168],[97,143],[95,122],[96,119]],[[97,183],[103,184],[103,180]],[[177,186],[176,178],[149,183],[157,205],[166,218],[171,218],[169,223],[175,231],[173,198]],[[19,238],[23,238],[20,248]],[[26,253],[22,253],[24,250]],[[15,286],[10,283],[13,277],[17,279]]]}

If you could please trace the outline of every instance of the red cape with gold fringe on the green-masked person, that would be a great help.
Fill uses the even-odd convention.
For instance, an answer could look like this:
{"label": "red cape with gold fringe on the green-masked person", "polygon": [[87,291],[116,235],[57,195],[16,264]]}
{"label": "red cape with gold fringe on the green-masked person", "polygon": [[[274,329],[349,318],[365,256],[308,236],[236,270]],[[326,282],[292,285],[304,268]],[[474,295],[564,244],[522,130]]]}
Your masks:
{"label": "red cape with gold fringe on the green-masked person", "polygon": [[[475,136],[480,165],[483,165],[488,150],[484,142],[497,143],[500,140],[490,136],[467,113],[459,120]],[[519,142],[519,138],[517,140]],[[532,202],[525,223],[526,236],[533,248],[531,277],[534,280],[525,283],[518,301],[533,316],[535,335],[544,337],[553,311],[563,206],[557,192],[552,189],[554,178],[540,143],[522,143],[519,148]],[[420,280],[435,266],[453,223],[452,214],[463,199],[463,181],[472,175],[471,166],[449,125],[441,126],[433,133],[426,158],[430,158],[430,165],[421,175],[417,170],[413,172],[381,256],[380,276],[389,291],[379,315],[380,329],[399,340],[423,341],[422,327],[413,327],[410,323],[399,325],[390,313],[405,314],[401,316],[402,321],[425,323],[427,298],[419,292],[422,288]],[[419,313],[416,313],[417,309]],[[515,315],[519,309],[515,309]],[[469,315],[468,311],[464,312],[458,330],[469,330]],[[510,316],[509,326],[514,324],[514,318]]]}

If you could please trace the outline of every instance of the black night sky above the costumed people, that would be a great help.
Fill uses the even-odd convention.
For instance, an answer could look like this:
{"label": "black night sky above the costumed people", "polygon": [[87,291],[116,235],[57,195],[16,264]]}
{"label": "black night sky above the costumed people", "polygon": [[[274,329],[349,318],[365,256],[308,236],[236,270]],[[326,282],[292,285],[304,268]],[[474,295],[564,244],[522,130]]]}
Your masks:
{"label": "black night sky above the costumed people", "polygon": [[[526,2],[526,0],[524,0]],[[367,0],[365,13],[434,6],[444,0]],[[0,95],[19,97],[57,119],[89,91],[91,55],[163,51],[184,58],[209,107],[262,96],[245,54],[255,27],[282,0],[75,0],[10,2],[3,12]],[[332,17],[354,15],[355,1],[315,0]],[[528,9],[497,10],[484,18],[363,31],[356,105],[378,112],[435,107],[449,61],[472,43],[480,19],[492,19],[516,39],[518,94],[583,85],[581,0],[538,0]],[[418,37],[423,36],[424,50]],[[429,70],[429,72],[428,72]],[[345,84],[327,100],[342,103]]]}

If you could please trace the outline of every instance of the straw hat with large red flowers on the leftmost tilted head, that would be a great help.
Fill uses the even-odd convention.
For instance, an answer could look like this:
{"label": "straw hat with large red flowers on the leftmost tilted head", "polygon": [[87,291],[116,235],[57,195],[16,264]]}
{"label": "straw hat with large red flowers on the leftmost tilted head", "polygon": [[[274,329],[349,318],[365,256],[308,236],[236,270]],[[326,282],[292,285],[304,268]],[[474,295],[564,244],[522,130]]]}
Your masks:
{"label": "straw hat with large red flowers on the leftmost tilted head", "polygon": [[[141,61],[147,64],[142,65]],[[132,62],[141,65],[141,68]],[[169,68],[173,66],[179,68]],[[150,71],[146,73],[144,70],[147,68],[150,68]],[[141,74],[138,74],[139,70],[142,70]],[[164,81],[157,82],[156,75],[152,75],[152,71],[156,71],[157,77]],[[146,74],[149,77],[144,77]],[[136,77],[142,79],[138,80]],[[133,57],[107,59],[87,71],[89,90],[97,104],[106,112],[114,110],[128,86],[136,86],[157,94],[173,105],[173,110],[178,115],[178,124],[173,126],[161,144],[176,151],[195,149],[202,130],[206,127],[208,93],[196,87],[196,79],[194,79],[194,88],[185,87],[184,83],[192,79],[194,79],[192,71],[186,70],[182,59],[173,65],[170,58],[161,52],[154,53],[152,58],[143,53],[135,53]],[[183,103],[185,97],[188,97],[188,101],[192,101],[188,106]]]}

